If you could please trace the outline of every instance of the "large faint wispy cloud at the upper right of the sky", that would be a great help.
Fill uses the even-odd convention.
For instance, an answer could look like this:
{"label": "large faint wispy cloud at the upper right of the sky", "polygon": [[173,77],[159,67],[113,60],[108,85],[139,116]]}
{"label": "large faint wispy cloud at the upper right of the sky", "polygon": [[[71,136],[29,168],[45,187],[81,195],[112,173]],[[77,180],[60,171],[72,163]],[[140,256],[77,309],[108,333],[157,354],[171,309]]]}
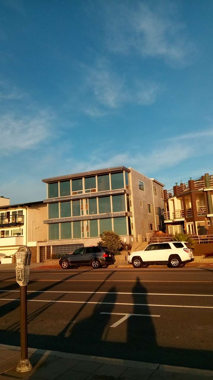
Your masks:
{"label": "large faint wispy cloud at the upper right of the sky", "polygon": [[107,46],[119,54],[161,57],[167,62],[189,63],[194,44],[185,36],[186,25],[171,3],[130,1],[117,3],[107,14]]}

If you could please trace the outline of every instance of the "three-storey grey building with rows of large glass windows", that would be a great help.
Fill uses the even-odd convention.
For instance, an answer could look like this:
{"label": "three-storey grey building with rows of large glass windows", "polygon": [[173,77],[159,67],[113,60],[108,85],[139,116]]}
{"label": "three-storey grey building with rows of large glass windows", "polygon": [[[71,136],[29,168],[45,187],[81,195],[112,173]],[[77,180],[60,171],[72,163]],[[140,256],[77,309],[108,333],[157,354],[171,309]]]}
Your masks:
{"label": "three-storey grey building with rows of large glass windows", "polygon": [[[125,242],[162,230],[163,184],[119,166],[42,179],[47,184],[47,243],[66,252],[71,244],[97,245],[110,230]],[[42,245],[42,244],[39,244]],[[42,245],[44,247],[44,245]]]}

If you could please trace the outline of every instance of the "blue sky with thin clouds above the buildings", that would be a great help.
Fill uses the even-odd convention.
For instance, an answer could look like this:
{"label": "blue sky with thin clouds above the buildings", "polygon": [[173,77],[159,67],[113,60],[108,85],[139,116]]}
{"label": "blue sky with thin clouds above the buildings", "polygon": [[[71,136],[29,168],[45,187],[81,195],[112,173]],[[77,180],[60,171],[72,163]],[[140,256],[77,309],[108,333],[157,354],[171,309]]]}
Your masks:
{"label": "blue sky with thin clouds above the buildings", "polygon": [[213,2],[0,0],[0,195],[132,166],[213,174]]}

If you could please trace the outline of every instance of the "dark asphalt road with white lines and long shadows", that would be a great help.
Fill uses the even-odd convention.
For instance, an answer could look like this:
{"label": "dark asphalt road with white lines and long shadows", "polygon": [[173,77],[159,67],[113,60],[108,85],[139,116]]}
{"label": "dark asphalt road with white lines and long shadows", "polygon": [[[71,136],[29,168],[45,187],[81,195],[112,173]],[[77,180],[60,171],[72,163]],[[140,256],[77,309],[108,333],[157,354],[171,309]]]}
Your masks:
{"label": "dark asphalt road with white lines and long shadows", "polygon": [[[0,271],[0,342],[20,345],[14,276]],[[213,369],[213,269],[33,270],[28,346]]]}

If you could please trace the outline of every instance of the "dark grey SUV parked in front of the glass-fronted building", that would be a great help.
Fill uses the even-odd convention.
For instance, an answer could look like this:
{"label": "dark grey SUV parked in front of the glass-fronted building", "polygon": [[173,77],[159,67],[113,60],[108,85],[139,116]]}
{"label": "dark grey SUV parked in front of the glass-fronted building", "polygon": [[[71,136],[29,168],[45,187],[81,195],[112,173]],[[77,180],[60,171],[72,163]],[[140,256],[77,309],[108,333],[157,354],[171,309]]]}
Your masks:
{"label": "dark grey SUV parked in front of the glass-fronted building", "polygon": [[93,269],[107,268],[115,263],[114,253],[107,247],[83,247],[75,252],[63,256],[59,260],[62,269],[92,266]]}

